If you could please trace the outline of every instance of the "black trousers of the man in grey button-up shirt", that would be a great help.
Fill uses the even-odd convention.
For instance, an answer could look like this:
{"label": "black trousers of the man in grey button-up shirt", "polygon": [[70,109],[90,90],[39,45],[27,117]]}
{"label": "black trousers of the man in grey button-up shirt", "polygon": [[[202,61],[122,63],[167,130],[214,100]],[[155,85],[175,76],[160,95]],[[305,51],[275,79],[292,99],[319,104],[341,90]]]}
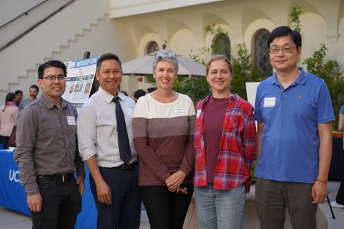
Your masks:
{"label": "black trousers of the man in grey button-up shirt", "polygon": [[34,229],[73,229],[81,210],[78,185],[69,182],[37,181],[43,204],[41,212],[31,212]]}

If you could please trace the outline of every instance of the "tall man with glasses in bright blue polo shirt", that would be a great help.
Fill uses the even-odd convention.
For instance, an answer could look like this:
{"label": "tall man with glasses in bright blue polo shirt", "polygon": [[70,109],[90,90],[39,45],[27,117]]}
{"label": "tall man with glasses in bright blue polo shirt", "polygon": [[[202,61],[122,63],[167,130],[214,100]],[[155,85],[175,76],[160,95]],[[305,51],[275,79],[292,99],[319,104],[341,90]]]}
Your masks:
{"label": "tall man with glasses in bright blue polo shirt", "polygon": [[327,195],[334,112],[325,82],[301,67],[301,35],[286,26],[268,37],[276,74],[257,88],[256,204],[262,229],[316,228]]}

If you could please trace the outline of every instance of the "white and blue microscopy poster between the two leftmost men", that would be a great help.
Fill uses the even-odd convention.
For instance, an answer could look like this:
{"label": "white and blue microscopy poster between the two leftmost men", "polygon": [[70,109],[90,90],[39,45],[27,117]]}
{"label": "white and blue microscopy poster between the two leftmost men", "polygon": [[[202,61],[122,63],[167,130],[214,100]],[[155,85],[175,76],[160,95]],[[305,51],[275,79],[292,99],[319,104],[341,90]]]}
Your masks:
{"label": "white and blue microscopy poster between the two leftmost men", "polygon": [[72,104],[79,111],[91,92],[96,63],[99,56],[83,59],[80,61],[68,61],[66,89],[62,97]]}

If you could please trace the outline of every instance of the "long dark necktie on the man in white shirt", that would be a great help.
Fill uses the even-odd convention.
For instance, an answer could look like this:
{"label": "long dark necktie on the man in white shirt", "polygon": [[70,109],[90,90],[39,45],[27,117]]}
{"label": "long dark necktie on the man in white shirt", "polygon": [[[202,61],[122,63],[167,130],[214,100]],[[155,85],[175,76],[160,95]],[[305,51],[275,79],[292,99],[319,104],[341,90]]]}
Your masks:
{"label": "long dark necktie on the man in white shirt", "polygon": [[125,124],[125,115],[120,107],[120,98],[115,97],[112,99],[116,103],[116,120],[117,120],[117,133],[118,133],[118,148],[120,149],[120,160],[126,164],[131,159],[131,149],[129,144],[127,125]]}

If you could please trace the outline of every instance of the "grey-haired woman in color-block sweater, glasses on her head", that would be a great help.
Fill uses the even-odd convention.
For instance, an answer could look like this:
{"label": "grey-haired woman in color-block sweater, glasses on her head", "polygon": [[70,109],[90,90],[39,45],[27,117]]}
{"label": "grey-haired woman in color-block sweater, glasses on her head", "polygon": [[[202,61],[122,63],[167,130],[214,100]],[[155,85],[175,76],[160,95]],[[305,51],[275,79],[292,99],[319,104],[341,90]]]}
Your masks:
{"label": "grey-haired woman in color-block sweater, glasses on her head", "polygon": [[133,116],[140,193],[152,229],[182,229],[193,195],[195,109],[189,96],[172,90],[177,74],[174,53],[155,54],[157,89],[138,99]]}

